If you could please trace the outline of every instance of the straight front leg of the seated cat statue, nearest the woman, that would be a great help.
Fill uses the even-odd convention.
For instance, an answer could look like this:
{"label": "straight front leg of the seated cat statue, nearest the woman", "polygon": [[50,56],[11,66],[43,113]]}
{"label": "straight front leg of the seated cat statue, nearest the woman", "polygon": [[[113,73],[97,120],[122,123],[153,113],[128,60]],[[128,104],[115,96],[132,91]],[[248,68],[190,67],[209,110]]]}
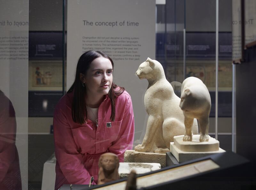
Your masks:
{"label": "straight front leg of the seated cat statue, nearest the woman", "polygon": [[154,145],[154,134],[156,133],[158,127],[162,128],[162,125],[163,121],[161,120],[160,116],[149,115],[146,134],[142,144],[137,145],[134,150],[138,152],[150,152]]}

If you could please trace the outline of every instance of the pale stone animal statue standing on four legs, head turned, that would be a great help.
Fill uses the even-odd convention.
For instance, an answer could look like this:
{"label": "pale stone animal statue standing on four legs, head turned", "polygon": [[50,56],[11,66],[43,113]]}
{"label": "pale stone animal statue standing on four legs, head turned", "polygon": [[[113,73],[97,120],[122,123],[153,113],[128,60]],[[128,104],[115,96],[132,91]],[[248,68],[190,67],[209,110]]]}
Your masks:
{"label": "pale stone animal statue standing on four legs, head turned", "polygon": [[186,133],[183,141],[192,141],[191,126],[194,118],[199,121],[199,141],[209,141],[209,115],[211,96],[203,81],[196,77],[188,77],[181,86],[180,108],[185,117]]}

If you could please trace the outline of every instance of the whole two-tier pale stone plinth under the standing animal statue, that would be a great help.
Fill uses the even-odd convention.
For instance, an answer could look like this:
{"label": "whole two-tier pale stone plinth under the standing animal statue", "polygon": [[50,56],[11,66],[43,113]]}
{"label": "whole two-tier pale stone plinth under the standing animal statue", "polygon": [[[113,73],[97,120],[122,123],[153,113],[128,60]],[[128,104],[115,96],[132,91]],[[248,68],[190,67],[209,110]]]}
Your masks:
{"label": "whole two-tier pale stone plinth under the standing animal statue", "polygon": [[192,141],[183,141],[184,135],[174,137],[174,142],[170,143],[172,155],[179,163],[201,158],[204,156],[225,152],[219,148],[219,141],[209,136],[209,141],[200,142],[200,135],[193,135]]}

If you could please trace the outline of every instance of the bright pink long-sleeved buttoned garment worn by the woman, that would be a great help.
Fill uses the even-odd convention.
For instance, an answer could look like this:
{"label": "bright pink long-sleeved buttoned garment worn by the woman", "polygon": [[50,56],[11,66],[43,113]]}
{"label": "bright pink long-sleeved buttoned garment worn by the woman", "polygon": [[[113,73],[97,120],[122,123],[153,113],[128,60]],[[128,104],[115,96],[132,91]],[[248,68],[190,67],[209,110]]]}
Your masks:
{"label": "bright pink long-sleeved buttoned garment worn by the woman", "polygon": [[56,156],[55,189],[63,184],[89,184],[98,180],[101,154],[112,152],[124,161],[124,151],[132,149],[134,116],[131,96],[124,91],[116,98],[116,119],[110,121],[108,95],[98,110],[98,127],[89,119],[83,125],[74,123],[71,115],[73,93],[64,95],[55,107],[53,133]]}

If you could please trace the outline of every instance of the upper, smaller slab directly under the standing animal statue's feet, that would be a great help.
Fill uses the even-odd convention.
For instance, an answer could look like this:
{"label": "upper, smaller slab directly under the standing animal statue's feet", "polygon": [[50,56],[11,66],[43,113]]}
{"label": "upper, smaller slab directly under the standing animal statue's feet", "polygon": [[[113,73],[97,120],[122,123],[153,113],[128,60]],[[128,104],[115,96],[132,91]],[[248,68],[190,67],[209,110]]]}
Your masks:
{"label": "upper, smaller slab directly under the standing animal statue's feet", "polygon": [[174,136],[174,145],[184,152],[218,151],[220,142],[209,136],[209,141],[200,142],[200,134],[193,135],[192,141],[183,141],[184,135]]}

